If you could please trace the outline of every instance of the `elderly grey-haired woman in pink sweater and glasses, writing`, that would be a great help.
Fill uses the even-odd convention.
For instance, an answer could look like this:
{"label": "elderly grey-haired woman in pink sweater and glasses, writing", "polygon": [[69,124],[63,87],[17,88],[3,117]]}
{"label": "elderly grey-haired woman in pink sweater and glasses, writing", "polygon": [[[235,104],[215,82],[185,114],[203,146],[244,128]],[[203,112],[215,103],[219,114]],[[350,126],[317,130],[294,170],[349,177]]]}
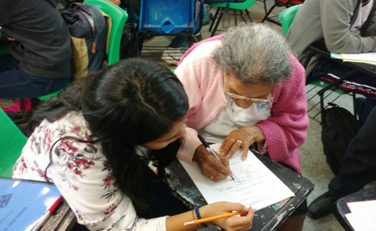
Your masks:
{"label": "elderly grey-haired woman in pink sweater and glasses, writing", "polygon": [[[308,129],[305,71],[284,38],[262,24],[230,28],[182,57],[174,72],[188,95],[186,142],[177,157],[214,181],[231,176],[228,158],[250,146],[301,174],[297,147]],[[220,164],[197,138],[222,143]],[[306,202],[280,230],[302,230]],[[292,226],[289,226],[292,225]]]}

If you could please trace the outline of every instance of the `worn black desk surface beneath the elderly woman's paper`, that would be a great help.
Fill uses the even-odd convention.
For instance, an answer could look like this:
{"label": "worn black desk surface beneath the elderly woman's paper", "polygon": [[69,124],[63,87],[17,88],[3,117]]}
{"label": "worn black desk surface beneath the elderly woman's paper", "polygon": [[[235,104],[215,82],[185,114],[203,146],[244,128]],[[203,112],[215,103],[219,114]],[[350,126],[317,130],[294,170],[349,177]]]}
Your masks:
{"label": "worn black desk surface beneath the elderly woman's paper", "polygon": [[[293,213],[295,208],[311,193],[314,185],[309,179],[297,175],[290,169],[270,160],[270,158],[258,153],[255,153],[255,155],[296,195],[290,198],[284,205],[276,203],[256,211],[252,231],[272,231],[278,228],[278,226]],[[196,205],[203,206],[207,204],[178,160],[174,160],[173,163],[165,169],[165,172],[166,180],[171,190],[175,196],[182,200],[187,206],[193,208]]]}

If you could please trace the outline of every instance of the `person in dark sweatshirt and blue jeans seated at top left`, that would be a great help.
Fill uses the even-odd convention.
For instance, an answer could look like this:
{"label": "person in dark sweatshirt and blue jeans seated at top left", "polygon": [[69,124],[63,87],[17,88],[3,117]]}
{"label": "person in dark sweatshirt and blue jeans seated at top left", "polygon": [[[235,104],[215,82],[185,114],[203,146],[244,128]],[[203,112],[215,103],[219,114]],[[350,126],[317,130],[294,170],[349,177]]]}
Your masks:
{"label": "person in dark sweatshirt and blue jeans seated at top left", "polygon": [[56,0],[0,0],[2,39],[0,99],[53,93],[71,78],[71,38]]}

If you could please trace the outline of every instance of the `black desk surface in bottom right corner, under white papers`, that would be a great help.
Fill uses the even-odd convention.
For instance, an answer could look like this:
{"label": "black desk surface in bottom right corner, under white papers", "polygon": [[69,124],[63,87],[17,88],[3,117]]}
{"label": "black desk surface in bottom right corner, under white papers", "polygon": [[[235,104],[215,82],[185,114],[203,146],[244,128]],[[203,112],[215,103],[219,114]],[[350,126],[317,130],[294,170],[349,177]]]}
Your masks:
{"label": "black desk surface in bottom right corner, under white papers", "polygon": [[376,200],[376,187],[362,190],[352,195],[338,199],[338,201],[333,206],[334,216],[346,231],[354,231],[345,217],[345,214],[350,213],[349,207],[347,207],[346,203],[353,201],[370,200]]}

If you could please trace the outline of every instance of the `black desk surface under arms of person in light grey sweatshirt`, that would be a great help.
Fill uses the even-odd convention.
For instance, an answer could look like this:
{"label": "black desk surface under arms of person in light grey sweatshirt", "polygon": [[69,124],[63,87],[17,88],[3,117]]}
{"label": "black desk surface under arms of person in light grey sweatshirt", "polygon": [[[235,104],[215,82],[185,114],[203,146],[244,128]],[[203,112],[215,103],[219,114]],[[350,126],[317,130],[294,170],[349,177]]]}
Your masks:
{"label": "black desk surface under arms of person in light grey sweatshirt", "polygon": [[[309,47],[317,54],[322,55],[326,58],[331,58],[330,52],[327,50],[325,44],[314,43]],[[343,62],[341,59],[333,59],[333,60],[337,62],[341,62],[342,64],[347,65],[357,71],[360,71],[373,78],[376,78],[376,65],[362,63],[362,62]]]}

